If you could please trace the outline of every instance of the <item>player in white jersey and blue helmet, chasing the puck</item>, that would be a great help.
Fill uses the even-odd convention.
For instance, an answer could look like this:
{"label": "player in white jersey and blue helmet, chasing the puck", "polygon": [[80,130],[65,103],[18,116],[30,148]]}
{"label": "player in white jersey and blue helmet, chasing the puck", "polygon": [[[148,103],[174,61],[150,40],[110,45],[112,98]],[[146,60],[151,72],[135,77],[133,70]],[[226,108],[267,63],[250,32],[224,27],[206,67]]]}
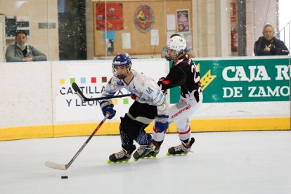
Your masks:
{"label": "player in white jersey and blue helmet, chasing the puck", "polygon": [[[131,158],[136,145],[140,147],[134,153],[134,160],[145,157],[153,150],[152,136],[145,132],[145,127],[155,119],[155,128],[165,130],[169,127],[167,98],[157,83],[141,72],[131,70],[131,58],[127,53],[118,53],[112,63],[113,77],[110,79],[102,96],[112,96],[124,88],[136,96],[136,101],[129,108],[124,117],[120,117],[119,125],[122,150],[109,156],[108,162],[124,162]],[[116,111],[111,100],[100,103],[103,115],[109,114],[108,119],[115,116]]]}

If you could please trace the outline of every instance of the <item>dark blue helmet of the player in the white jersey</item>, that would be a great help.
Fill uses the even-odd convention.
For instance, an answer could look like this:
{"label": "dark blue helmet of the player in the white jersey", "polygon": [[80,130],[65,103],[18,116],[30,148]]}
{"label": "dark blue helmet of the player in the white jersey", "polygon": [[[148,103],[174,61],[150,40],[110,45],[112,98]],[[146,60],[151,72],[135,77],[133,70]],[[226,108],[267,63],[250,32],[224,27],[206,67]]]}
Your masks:
{"label": "dark blue helmet of the player in the white jersey", "polygon": [[[117,72],[115,70],[115,67],[126,67],[127,73],[126,75],[117,75]],[[129,54],[127,53],[117,53],[117,56],[112,61],[112,72],[115,77],[118,79],[124,79],[127,77],[129,71],[131,70],[131,58],[129,58]]]}

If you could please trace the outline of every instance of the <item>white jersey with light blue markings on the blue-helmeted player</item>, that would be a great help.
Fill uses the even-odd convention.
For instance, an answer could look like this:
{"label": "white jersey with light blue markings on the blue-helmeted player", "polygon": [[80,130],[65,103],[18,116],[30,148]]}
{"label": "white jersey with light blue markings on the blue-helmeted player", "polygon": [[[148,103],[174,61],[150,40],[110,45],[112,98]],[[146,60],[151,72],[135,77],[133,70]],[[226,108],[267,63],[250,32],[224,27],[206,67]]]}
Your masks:
{"label": "white jersey with light blue markings on the blue-helmeted player", "polygon": [[157,106],[166,102],[166,97],[157,85],[157,82],[141,72],[136,72],[135,70],[131,70],[131,72],[134,77],[129,84],[126,84],[122,79],[118,79],[115,76],[112,77],[105,86],[105,89],[103,89],[102,96],[112,96],[124,88],[130,93],[134,93],[136,95],[136,101],[139,103]]}

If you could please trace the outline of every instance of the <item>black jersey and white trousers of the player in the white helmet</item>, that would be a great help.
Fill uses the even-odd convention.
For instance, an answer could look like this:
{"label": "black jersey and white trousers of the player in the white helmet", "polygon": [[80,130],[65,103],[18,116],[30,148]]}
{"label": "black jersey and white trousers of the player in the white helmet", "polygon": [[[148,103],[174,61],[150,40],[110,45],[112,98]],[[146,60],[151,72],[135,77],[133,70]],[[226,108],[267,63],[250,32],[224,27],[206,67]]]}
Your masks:
{"label": "black jersey and white trousers of the player in the white helmet", "polygon": [[[175,122],[180,140],[189,139],[191,133],[190,120],[203,101],[198,67],[188,54],[184,54],[171,67],[167,77],[162,77],[159,83],[162,89],[180,86],[181,98],[179,103],[169,106],[165,114],[169,115],[169,123]],[[153,131],[153,139],[163,141],[164,133]]]}

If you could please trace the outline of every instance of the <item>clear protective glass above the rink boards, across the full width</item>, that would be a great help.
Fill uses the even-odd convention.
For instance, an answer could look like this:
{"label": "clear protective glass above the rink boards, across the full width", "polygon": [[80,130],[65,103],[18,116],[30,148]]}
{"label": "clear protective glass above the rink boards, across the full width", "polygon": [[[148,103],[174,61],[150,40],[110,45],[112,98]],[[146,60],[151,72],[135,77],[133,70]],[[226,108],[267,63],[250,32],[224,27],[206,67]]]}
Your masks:
{"label": "clear protective glass above the rink boards, across the full width", "polygon": [[164,44],[178,33],[193,57],[254,56],[267,23],[290,49],[288,7],[287,0],[2,0],[1,44],[14,44],[15,31],[25,30],[27,44],[48,60],[106,59],[119,52],[161,58]]}

